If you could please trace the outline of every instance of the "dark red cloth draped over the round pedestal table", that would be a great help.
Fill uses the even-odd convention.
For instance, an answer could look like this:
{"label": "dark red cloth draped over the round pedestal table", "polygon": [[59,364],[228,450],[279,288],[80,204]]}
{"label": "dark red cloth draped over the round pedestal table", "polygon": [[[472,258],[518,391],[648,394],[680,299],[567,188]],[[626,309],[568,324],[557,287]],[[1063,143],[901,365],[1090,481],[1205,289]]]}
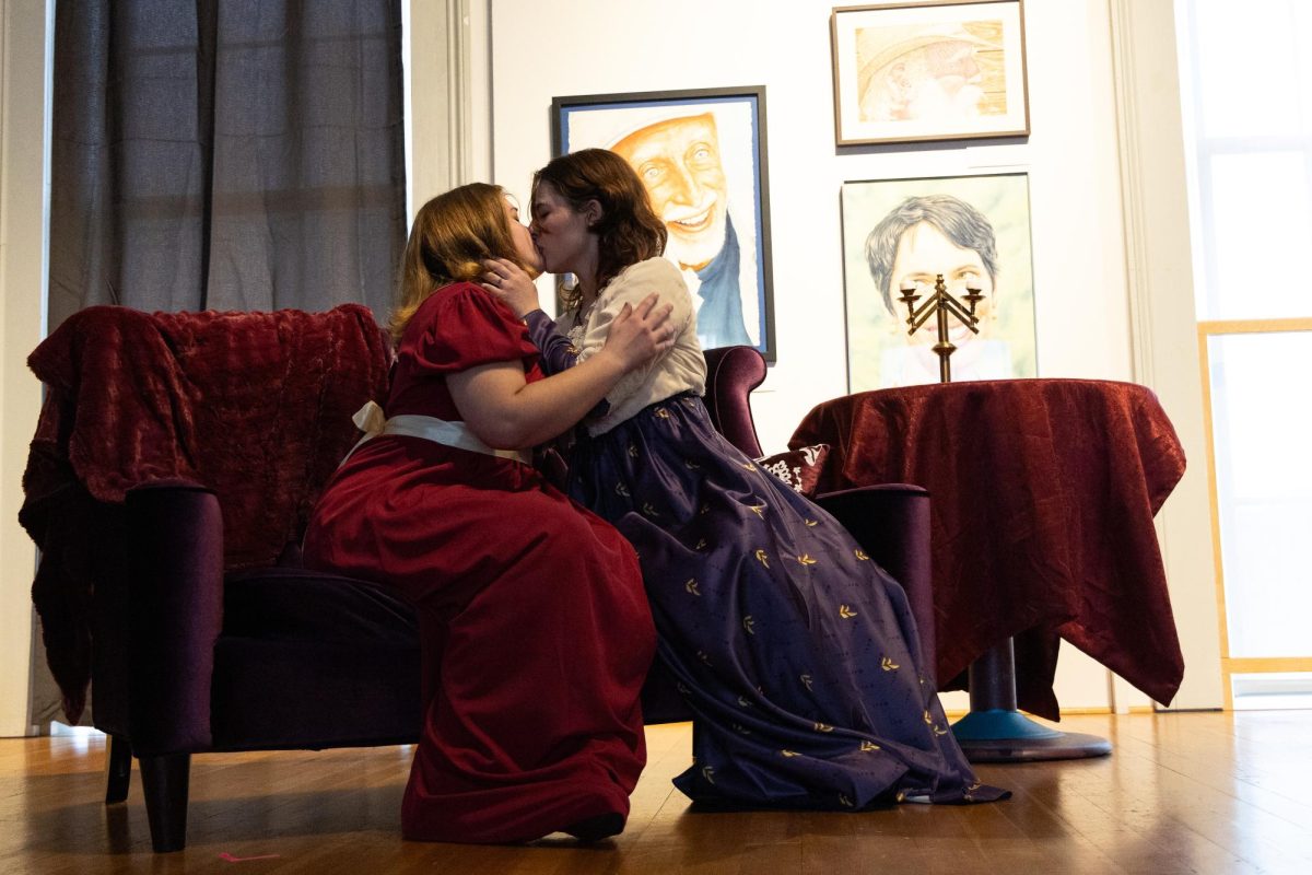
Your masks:
{"label": "dark red cloth draped over the round pedestal table", "polygon": [[1015,639],[1019,707],[1057,719],[1059,639],[1157,702],[1179,689],[1153,514],[1185,472],[1143,386],[1025,379],[912,386],[825,401],[791,447],[829,443],[820,491],[930,491],[937,677],[960,686]]}

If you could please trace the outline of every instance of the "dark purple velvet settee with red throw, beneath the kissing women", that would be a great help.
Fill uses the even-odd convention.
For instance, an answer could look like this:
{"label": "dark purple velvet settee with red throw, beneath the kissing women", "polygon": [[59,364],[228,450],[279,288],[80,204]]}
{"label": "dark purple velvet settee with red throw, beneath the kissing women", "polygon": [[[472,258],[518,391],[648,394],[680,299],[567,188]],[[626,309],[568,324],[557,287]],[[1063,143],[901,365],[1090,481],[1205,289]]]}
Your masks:
{"label": "dark purple velvet settee with red throw, beneath the kissing women", "polygon": [[[350,415],[386,391],[388,356],[358,306],[97,307],[29,358],[47,397],[21,518],[42,548],[47,661],[71,722],[91,690],[110,737],[106,803],[126,799],[138,760],[156,851],[185,846],[193,753],[419,739],[432,660],[411,609],[375,582],[303,569],[298,547],[358,437]],[[750,348],[706,357],[718,428],[758,455],[749,394],[765,362]],[[914,590],[928,505],[904,492],[893,508],[855,495],[829,506],[891,542],[886,567]],[[690,716],[659,666],[643,702],[649,723]]]}

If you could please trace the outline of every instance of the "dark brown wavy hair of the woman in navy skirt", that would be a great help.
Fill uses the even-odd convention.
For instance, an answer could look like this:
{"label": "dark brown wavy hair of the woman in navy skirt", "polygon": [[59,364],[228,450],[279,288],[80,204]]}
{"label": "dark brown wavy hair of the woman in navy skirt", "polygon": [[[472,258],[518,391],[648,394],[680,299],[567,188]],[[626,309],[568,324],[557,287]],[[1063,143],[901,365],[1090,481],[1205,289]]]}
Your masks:
{"label": "dark brown wavy hair of the woman in navy skirt", "polygon": [[[550,182],[575,211],[588,201],[601,205],[601,218],[592,226],[598,237],[597,289],[605,287],[628,265],[665,251],[669,232],[647,197],[647,188],[628,161],[604,148],[585,148],[551,160],[533,174],[533,193]],[[579,304],[583,291],[562,294],[568,307]]]}

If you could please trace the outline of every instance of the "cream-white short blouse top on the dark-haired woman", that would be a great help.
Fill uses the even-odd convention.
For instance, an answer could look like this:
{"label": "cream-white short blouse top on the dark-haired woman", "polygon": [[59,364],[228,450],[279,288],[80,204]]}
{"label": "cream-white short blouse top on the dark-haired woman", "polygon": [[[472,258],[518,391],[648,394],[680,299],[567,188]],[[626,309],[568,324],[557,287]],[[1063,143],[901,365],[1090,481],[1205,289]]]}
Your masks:
{"label": "cream-white short blouse top on the dark-haired woman", "polygon": [[666,258],[657,256],[625,268],[601,290],[581,324],[575,324],[577,310],[567,310],[556,319],[556,331],[569,337],[583,362],[605,345],[610,323],[625,304],[636,310],[653,291],[660,295],[660,304],[674,307],[669,316],[677,332],[674,346],[615,383],[606,395],[610,411],[588,422],[589,434],[604,434],[648,404],[680,392],[706,394],[706,358],[697,342],[693,296],[678,268]]}

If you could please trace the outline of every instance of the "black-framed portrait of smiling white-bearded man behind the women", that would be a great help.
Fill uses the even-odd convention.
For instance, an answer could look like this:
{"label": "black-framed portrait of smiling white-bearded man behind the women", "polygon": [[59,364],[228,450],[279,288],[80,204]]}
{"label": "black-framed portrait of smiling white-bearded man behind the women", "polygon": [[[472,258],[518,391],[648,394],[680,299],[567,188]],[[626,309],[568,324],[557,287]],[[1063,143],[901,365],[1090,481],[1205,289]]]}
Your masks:
{"label": "black-framed portrait of smiling white-bearded man behind the women", "polygon": [[551,119],[554,155],[606,148],[638,172],[702,348],[754,346],[773,362],[765,87],[556,97]]}

